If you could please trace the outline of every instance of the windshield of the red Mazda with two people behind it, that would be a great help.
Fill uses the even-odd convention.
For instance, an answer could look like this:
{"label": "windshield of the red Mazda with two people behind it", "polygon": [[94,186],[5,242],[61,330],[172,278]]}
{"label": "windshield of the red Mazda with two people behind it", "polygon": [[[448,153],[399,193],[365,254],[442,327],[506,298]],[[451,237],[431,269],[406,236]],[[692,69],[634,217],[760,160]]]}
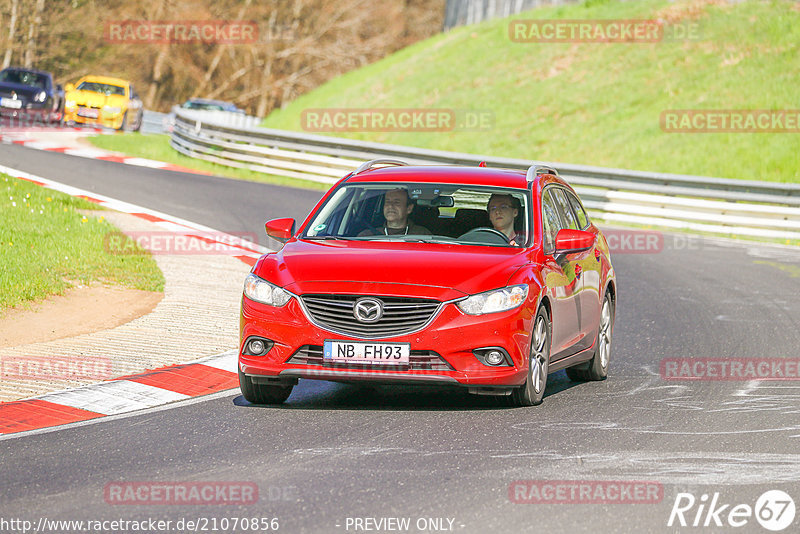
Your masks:
{"label": "windshield of the red Mazda with two people behind it", "polygon": [[305,228],[309,240],[528,245],[529,193],[435,183],[355,183],[339,187]]}

